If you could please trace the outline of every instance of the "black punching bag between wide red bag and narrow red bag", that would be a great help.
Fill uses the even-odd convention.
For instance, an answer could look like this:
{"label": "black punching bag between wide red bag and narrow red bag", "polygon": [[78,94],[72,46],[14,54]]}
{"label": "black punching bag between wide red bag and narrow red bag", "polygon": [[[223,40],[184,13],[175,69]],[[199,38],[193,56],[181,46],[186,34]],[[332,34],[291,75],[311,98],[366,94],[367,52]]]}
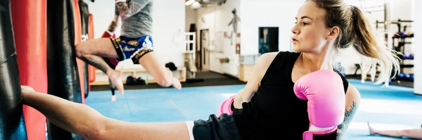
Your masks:
{"label": "black punching bag between wide red bag and narrow red bag", "polygon": [[[75,54],[73,1],[47,0],[48,94],[82,103]],[[49,140],[83,140],[47,120]]]}

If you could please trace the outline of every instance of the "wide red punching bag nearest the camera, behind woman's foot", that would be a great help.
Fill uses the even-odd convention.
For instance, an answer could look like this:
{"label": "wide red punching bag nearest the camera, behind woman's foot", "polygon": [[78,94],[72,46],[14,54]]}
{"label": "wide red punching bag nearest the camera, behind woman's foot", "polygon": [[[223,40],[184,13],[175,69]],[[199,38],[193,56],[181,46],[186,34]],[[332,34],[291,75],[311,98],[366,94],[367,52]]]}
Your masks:
{"label": "wide red punching bag nearest the camera, behind woman's foot", "polygon": [[[11,0],[21,85],[47,93],[46,0]],[[28,140],[46,140],[46,117],[23,106]]]}

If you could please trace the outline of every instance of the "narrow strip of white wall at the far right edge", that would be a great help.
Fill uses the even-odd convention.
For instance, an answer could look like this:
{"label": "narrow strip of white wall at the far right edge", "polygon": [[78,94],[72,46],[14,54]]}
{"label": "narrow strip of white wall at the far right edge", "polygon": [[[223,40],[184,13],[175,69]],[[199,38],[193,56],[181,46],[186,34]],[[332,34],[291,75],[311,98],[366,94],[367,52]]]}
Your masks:
{"label": "narrow strip of white wall at the far right edge", "polygon": [[[417,10],[415,10],[416,14],[415,14],[415,25],[421,25],[422,23],[422,10],[420,9],[420,7],[422,6],[422,1],[421,0],[415,0],[414,1],[414,8],[418,8]],[[415,33],[422,33],[422,27],[421,26],[416,26],[415,27]],[[415,67],[414,67],[414,92],[417,94],[422,94],[422,48],[420,46],[422,46],[422,42],[420,40],[422,40],[422,35],[416,35],[415,36],[415,40],[419,40],[417,42],[415,42],[415,46],[419,46],[419,47],[415,47]],[[419,71],[419,72],[417,72]]]}

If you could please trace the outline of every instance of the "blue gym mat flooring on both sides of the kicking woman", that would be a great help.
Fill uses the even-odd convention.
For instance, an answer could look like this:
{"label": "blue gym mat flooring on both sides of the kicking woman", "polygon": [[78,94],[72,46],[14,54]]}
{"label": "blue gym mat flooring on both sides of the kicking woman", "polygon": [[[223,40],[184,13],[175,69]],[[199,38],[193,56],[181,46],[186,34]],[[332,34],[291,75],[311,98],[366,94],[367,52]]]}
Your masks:
{"label": "blue gym mat flooring on both sides of the kicking woman", "polygon": [[[414,129],[422,124],[422,96],[413,88],[348,79],[361,94],[359,109],[344,140],[396,140],[370,136],[367,122],[376,129]],[[207,120],[220,103],[245,85],[125,90],[111,102],[110,91],[90,92],[86,104],[104,116],[127,122],[184,122]]]}

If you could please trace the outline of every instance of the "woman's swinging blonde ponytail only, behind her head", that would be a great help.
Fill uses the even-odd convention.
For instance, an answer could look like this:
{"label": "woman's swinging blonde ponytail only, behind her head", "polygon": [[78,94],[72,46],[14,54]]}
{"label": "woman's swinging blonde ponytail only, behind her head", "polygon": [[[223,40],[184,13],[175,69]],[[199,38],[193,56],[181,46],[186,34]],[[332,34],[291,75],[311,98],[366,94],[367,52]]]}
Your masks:
{"label": "woman's swinging blonde ponytail only, behind her head", "polygon": [[[361,55],[361,68],[366,70],[375,69],[379,64],[379,75],[375,79],[375,84],[388,83],[391,74],[396,75],[399,70],[399,58],[395,51],[387,46],[384,38],[376,35],[376,31],[371,27],[371,23],[365,18],[362,11],[351,5],[349,8],[352,19],[352,36],[350,42],[354,50]],[[394,71],[394,73],[392,73]]]}

